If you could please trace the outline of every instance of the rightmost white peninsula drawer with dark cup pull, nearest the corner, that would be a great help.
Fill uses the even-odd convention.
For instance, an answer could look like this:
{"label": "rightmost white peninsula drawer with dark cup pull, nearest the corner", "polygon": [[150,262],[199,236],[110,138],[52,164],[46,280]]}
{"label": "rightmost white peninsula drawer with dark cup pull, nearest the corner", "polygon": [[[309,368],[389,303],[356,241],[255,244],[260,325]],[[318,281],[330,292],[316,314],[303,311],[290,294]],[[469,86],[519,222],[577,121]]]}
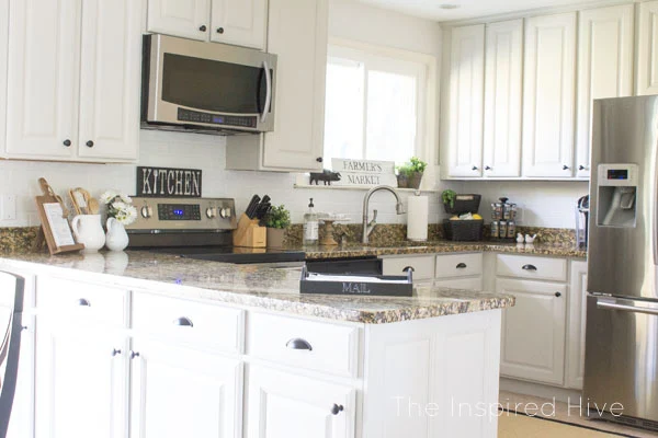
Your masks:
{"label": "rightmost white peninsula drawer with dark cup pull, nearest the corner", "polygon": [[249,313],[247,354],[294,367],[356,377],[359,328]]}

